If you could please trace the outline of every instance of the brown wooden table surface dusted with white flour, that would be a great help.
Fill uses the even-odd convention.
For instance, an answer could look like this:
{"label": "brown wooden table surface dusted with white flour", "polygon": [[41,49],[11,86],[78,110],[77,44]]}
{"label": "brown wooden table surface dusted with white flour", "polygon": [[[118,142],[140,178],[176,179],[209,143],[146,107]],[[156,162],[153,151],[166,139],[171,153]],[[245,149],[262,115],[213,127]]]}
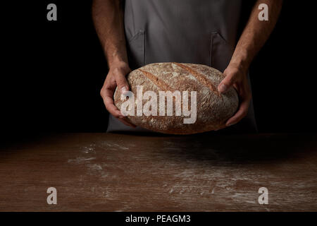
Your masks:
{"label": "brown wooden table surface dusted with white flour", "polygon": [[[316,138],[61,133],[7,143],[0,210],[316,211]],[[49,187],[57,205],[46,202]]]}

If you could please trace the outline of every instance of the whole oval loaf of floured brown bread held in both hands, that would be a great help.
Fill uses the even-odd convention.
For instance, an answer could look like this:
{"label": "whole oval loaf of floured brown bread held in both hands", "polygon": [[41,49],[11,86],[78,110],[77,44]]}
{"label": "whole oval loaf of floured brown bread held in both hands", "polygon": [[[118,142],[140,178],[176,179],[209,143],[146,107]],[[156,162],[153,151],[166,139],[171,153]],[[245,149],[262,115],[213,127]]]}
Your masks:
{"label": "whole oval loaf of floured brown bread held in both hands", "polygon": [[[218,92],[223,78],[220,71],[200,64],[148,64],[128,74],[132,93],[127,97],[117,89],[114,102],[132,124],[151,131],[191,134],[223,129],[239,105],[234,88]],[[170,105],[164,96],[168,91]]]}

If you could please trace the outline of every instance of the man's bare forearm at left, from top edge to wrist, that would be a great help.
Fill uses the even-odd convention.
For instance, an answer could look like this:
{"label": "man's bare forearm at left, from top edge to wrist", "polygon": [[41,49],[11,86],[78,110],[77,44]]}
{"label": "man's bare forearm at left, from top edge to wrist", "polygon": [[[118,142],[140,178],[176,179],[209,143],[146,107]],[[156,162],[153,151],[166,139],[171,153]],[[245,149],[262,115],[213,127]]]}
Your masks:
{"label": "man's bare forearm at left, from top edge to wrist", "polygon": [[94,0],[92,18],[109,67],[117,61],[128,63],[120,0]]}

